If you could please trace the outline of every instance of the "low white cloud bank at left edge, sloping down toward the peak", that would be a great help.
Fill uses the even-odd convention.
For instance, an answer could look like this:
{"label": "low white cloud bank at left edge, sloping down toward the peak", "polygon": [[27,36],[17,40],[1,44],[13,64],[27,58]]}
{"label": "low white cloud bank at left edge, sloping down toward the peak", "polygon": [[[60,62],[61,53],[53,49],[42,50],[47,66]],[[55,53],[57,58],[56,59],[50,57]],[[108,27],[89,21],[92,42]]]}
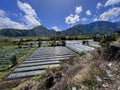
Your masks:
{"label": "low white cloud bank at left edge, sloping down toward the peak", "polygon": [[0,10],[0,29],[14,28],[14,29],[27,29],[23,24],[15,22],[6,16],[6,12]]}

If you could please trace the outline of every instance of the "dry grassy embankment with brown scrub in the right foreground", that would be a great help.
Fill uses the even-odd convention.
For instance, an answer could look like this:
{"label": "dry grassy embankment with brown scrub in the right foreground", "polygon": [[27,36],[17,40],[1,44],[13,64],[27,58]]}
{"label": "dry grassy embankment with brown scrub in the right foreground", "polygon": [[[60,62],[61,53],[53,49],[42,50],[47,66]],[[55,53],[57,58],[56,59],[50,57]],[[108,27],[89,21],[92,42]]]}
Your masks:
{"label": "dry grassy embankment with brown scrub in the right foreground", "polygon": [[64,61],[61,67],[13,90],[120,90],[120,47],[110,46]]}

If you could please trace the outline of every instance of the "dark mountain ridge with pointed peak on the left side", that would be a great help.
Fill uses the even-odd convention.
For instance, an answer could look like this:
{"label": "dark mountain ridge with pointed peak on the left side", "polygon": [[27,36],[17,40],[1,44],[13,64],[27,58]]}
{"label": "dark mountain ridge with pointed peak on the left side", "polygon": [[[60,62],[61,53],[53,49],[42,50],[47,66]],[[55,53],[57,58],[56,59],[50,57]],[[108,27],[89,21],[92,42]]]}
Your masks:
{"label": "dark mountain ridge with pointed peak on the left side", "polygon": [[30,30],[3,29],[0,30],[0,35],[6,37],[52,36],[50,31],[42,25]]}

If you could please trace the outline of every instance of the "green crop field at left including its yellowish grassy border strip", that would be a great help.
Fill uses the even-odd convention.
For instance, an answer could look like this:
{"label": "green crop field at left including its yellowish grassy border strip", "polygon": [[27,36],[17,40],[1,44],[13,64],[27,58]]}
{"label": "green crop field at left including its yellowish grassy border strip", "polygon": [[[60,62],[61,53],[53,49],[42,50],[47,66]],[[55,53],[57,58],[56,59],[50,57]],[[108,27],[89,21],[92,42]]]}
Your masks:
{"label": "green crop field at left including its yellowish grassy border strip", "polygon": [[[7,42],[8,43],[8,42]],[[36,48],[18,48],[17,45],[0,45],[0,80],[4,79],[17,64],[29,56]]]}

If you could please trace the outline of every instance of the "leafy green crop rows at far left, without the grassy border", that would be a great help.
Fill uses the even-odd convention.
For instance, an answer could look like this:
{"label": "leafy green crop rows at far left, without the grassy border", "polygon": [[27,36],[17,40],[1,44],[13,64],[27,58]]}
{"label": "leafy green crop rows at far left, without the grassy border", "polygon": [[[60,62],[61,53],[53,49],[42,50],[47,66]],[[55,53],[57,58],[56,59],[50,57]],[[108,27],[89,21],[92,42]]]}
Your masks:
{"label": "leafy green crop rows at far left, without the grassy border", "polygon": [[8,48],[0,48],[0,68],[10,68],[12,66],[11,58],[12,56],[16,56],[17,62],[21,58],[23,58],[26,53],[28,53],[30,48],[17,48],[17,47],[8,47]]}

